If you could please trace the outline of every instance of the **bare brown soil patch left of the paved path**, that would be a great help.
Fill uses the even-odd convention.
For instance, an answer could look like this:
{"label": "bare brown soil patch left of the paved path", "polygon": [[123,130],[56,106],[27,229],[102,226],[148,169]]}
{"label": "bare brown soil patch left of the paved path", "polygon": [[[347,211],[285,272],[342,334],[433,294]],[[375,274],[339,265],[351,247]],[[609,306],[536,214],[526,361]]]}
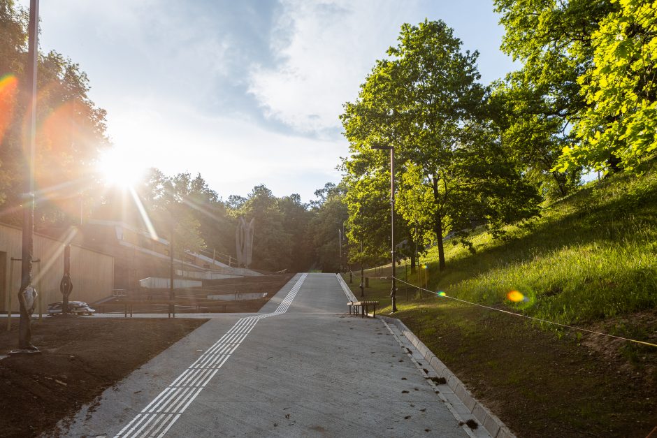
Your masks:
{"label": "bare brown soil patch left of the paved path", "polygon": [[[56,435],[57,422],[157,356],[206,319],[45,317],[32,324],[42,353],[0,360],[0,436]],[[18,320],[3,320],[0,354],[15,349]]]}

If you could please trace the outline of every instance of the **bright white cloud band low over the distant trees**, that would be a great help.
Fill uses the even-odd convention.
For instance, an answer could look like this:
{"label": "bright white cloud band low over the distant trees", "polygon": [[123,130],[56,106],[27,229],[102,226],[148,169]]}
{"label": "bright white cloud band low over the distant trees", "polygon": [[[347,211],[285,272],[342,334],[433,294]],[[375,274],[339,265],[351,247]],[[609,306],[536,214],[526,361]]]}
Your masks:
{"label": "bright white cloud band low over the distant trees", "polygon": [[224,198],[246,195],[263,183],[277,196],[298,193],[310,200],[326,181],[339,179],[336,156],[347,149],[345,140],[271,133],[244,120],[201,114],[166,100],[128,99],[119,106],[124,109],[110,111],[108,125],[126,160],[157,167],[166,175],[200,172]]}

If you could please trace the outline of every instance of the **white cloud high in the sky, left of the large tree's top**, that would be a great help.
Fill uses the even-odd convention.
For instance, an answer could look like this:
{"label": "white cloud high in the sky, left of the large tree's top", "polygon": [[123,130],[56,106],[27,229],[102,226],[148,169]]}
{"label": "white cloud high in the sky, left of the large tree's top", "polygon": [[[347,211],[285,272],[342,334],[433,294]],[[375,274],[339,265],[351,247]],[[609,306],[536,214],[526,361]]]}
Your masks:
{"label": "white cloud high in the sky, left of the large tree's top", "polygon": [[277,68],[257,64],[250,92],[268,117],[301,132],[340,126],[342,104],[356,98],[375,59],[396,44],[414,2],[284,0],[272,36]]}

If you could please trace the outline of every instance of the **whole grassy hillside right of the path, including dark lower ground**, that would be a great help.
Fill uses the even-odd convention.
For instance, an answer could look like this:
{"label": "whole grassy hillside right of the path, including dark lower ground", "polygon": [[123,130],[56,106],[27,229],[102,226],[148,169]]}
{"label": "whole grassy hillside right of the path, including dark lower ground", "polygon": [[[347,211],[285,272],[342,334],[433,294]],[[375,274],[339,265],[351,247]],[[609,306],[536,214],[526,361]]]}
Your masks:
{"label": "whole grassy hillside right of the path, including dark lower ground", "polygon": [[[641,172],[591,182],[507,227],[503,240],[478,230],[474,253],[447,242],[444,272],[431,249],[426,272],[401,265],[397,277],[409,272],[421,284],[426,275],[429,290],[451,297],[657,343],[657,163]],[[388,306],[389,281],[375,277],[389,274],[389,266],[366,272],[366,295]],[[655,347],[528,323],[404,284],[398,309],[521,436],[644,437],[657,425]]]}

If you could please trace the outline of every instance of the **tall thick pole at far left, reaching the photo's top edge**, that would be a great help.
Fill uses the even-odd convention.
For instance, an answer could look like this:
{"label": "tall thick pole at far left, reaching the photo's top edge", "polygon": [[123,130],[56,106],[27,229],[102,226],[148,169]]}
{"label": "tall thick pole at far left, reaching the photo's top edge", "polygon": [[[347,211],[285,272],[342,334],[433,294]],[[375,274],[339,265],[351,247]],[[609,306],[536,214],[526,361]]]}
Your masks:
{"label": "tall thick pole at far left, reaching the photo's top edge", "polygon": [[[27,87],[24,98],[27,102],[29,120],[27,122],[27,138],[24,138],[24,154],[27,177],[24,181],[23,199],[23,227],[20,265],[20,291],[18,302],[20,304],[20,323],[18,330],[18,348],[24,351],[38,351],[31,344],[31,312],[34,311],[34,295],[27,296],[27,289],[32,282],[32,253],[34,251],[34,158],[36,147],[36,71],[38,61],[38,0],[29,2],[29,24],[27,43]],[[30,291],[31,292],[31,291]],[[25,295],[25,296],[23,296]],[[27,299],[21,299],[27,298]],[[28,307],[29,306],[29,307]]]}

